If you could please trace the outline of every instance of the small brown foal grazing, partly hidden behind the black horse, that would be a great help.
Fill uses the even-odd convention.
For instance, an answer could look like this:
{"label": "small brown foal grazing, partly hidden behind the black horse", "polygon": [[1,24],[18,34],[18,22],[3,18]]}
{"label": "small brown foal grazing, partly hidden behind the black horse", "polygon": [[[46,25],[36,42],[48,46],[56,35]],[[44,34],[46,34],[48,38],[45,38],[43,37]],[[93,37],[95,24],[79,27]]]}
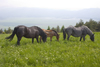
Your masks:
{"label": "small brown foal grazing, partly hidden behind the black horse", "polygon": [[[56,36],[57,41],[59,41],[59,34],[55,30],[45,30],[45,29],[42,30],[46,33],[47,37],[50,37],[50,41],[52,41],[53,36]],[[40,37],[40,42],[41,38],[42,37]]]}

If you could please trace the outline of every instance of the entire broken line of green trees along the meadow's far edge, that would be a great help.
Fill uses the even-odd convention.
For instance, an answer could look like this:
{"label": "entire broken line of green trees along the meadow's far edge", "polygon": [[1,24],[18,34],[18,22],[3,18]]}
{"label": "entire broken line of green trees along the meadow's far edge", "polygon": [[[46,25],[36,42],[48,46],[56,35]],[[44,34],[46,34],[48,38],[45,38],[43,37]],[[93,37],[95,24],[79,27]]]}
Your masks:
{"label": "entire broken line of green trees along the meadow's far edge", "polygon": [[[79,27],[79,26],[82,26],[82,25],[86,25],[87,27],[89,27],[89,29],[91,29],[92,31],[94,32],[98,32],[100,31],[100,21],[94,21],[92,19],[90,19],[89,21],[86,21],[85,23],[83,22],[82,19],[80,19],[80,21],[78,23],[76,23],[75,27]],[[59,25],[57,27],[52,27],[50,28],[50,26],[48,26],[47,30],[56,30],[57,32],[63,32],[63,29],[64,29],[64,25],[60,28]],[[9,34],[9,33],[12,33],[12,29],[9,27],[8,29],[0,29],[0,34]]]}

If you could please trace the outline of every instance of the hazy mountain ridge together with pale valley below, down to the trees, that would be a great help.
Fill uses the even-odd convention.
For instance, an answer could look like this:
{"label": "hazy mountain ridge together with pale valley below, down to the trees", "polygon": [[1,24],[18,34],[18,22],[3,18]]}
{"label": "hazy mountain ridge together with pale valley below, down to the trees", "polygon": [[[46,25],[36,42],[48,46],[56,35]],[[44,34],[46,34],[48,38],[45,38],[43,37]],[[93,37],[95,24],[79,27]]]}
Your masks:
{"label": "hazy mountain ridge together with pale valley below, down to the trees", "polygon": [[78,11],[54,10],[41,8],[0,8],[0,28],[14,28],[17,25],[40,26],[47,29],[48,26],[59,25],[75,26],[79,20],[90,19],[100,21],[100,8],[90,8]]}

